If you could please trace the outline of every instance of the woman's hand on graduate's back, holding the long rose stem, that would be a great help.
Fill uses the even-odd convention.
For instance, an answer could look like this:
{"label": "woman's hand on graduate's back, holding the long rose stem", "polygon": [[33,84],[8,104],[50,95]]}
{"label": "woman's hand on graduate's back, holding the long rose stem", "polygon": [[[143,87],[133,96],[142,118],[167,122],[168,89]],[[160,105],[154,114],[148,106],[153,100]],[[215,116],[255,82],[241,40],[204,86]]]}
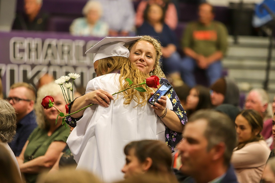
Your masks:
{"label": "woman's hand on graduate's back, holding the long rose stem", "polygon": [[111,100],[114,99],[111,94],[102,89],[89,92],[86,95],[86,101],[101,105],[102,107],[109,107],[109,104],[111,104]]}

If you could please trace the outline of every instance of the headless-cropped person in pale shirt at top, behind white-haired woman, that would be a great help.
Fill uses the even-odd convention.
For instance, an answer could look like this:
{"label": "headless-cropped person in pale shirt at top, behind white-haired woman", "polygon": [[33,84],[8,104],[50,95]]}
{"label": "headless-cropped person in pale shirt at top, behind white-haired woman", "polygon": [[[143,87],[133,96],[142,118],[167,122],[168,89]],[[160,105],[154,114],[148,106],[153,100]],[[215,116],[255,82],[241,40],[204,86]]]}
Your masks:
{"label": "headless-cropped person in pale shirt at top, behind white-haired woman", "polygon": [[99,0],[103,5],[101,20],[109,26],[109,36],[134,34],[135,10],[129,0]]}

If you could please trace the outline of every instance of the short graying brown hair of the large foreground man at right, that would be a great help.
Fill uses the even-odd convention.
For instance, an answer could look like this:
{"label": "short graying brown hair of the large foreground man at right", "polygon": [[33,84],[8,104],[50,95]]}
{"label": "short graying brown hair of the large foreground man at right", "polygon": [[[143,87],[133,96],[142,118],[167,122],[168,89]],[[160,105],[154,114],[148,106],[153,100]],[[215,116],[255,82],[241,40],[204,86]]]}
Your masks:
{"label": "short graying brown hair of the large foreground man at right", "polygon": [[188,119],[188,123],[199,119],[205,119],[207,121],[207,127],[204,131],[204,137],[208,142],[207,151],[210,151],[211,148],[218,143],[224,142],[226,146],[224,151],[224,164],[229,166],[233,149],[237,145],[235,125],[226,114],[213,109],[200,109],[196,111]]}

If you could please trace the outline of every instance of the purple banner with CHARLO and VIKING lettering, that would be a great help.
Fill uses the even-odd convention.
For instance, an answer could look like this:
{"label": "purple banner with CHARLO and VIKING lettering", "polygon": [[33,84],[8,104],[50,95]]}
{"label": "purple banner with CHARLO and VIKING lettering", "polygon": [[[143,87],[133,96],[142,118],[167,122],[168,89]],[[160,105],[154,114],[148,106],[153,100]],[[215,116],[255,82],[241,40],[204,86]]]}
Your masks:
{"label": "purple banner with CHARLO and VIKING lettering", "polygon": [[95,77],[94,54],[85,51],[102,38],[78,37],[67,33],[0,32],[0,76],[4,94],[17,82],[37,86],[49,73],[54,78],[69,72],[81,75],[76,86],[86,86]]}

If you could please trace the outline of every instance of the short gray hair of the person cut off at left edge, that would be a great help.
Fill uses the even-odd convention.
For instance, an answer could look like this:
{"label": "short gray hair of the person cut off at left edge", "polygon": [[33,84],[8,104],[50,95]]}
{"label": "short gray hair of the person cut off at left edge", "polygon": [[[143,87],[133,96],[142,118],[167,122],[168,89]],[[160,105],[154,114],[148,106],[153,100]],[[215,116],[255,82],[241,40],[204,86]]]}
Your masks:
{"label": "short gray hair of the person cut off at left edge", "polygon": [[11,142],[16,133],[15,109],[7,100],[0,100],[0,140]]}

